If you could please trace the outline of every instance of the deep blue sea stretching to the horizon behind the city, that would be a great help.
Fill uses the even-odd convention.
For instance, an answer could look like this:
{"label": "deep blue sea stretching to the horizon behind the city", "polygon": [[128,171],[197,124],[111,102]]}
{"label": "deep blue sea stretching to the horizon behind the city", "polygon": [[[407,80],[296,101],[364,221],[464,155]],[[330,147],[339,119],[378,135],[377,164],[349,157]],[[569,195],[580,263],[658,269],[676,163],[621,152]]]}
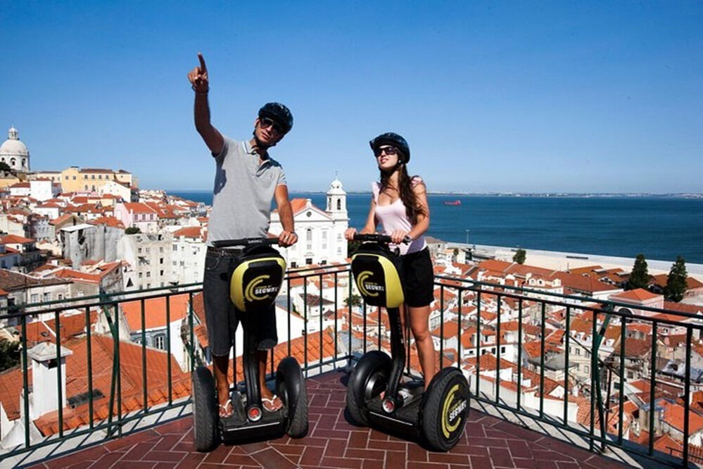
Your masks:
{"label": "deep blue sea stretching to the horizon behind the city", "polygon": [[[211,204],[205,191],[169,194]],[[291,194],[324,209],[323,193]],[[350,226],[360,228],[369,194],[348,194]],[[460,200],[448,206],[444,201]],[[703,199],[673,196],[429,196],[429,235],[451,242],[524,247],[659,261],[703,263]]]}

